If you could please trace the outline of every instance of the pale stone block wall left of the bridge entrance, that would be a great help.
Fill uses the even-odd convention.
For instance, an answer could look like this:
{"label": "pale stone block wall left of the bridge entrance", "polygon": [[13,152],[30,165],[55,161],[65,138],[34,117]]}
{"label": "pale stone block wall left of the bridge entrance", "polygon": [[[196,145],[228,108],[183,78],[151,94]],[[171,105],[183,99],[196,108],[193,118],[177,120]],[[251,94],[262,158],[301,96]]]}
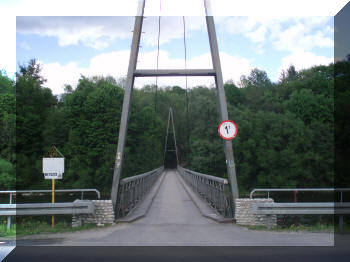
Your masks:
{"label": "pale stone block wall left of the bridge entrance", "polygon": [[72,227],[82,226],[84,223],[93,223],[98,226],[114,224],[114,210],[112,200],[92,200],[93,214],[78,214],[72,217]]}

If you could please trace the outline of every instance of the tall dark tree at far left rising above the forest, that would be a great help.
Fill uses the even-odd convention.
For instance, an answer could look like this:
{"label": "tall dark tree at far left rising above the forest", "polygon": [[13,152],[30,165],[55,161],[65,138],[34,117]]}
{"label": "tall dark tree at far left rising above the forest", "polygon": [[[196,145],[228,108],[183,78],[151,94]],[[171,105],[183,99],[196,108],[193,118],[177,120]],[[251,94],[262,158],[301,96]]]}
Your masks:
{"label": "tall dark tree at far left rising above the forest", "polygon": [[17,187],[33,185],[42,178],[43,131],[50,110],[57,104],[45,88],[40,65],[31,60],[21,66],[16,77],[16,153]]}

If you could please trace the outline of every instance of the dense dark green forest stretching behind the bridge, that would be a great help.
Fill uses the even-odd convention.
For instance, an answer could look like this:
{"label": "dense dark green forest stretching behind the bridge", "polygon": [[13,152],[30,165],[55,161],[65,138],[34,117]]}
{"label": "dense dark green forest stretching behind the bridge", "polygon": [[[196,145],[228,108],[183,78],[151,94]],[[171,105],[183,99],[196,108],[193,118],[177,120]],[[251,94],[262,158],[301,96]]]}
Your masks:
{"label": "dense dark green forest stretching behind the bridge", "polygon": [[[108,193],[122,81],[81,76],[76,87],[67,85],[64,94],[54,96],[40,70],[32,60],[20,67],[16,81],[0,74],[0,189],[50,188],[41,165],[55,145],[66,160],[57,188]],[[233,148],[241,192],[256,187],[332,187],[334,171],[349,170],[349,75],[350,61],[341,61],[301,71],[290,66],[277,83],[259,69],[239,83],[225,83],[230,119],[238,126]],[[334,92],[334,85],[342,88]],[[123,176],[162,165],[171,106],[180,164],[226,177],[215,87],[186,92],[169,86],[158,88],[157,96],[155,92],[155,86],[134,90]],[[334,132],[341,133],[336,140]],[[344,176],[339,185],[345,183]]]}

